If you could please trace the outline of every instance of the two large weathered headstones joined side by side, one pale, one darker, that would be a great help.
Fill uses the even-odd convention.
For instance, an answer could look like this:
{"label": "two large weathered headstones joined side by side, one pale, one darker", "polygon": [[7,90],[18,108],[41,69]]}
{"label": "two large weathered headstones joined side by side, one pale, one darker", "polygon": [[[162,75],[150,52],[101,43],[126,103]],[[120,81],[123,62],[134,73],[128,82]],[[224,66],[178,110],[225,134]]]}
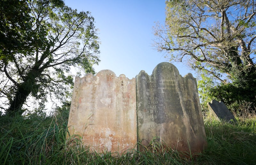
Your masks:
{"label": "two large weathered headstones joined side by side, one pale, one darker", "polygon": [[68,130],[100,153],[143,150],[152,140],[189,154],[206,145],[196,79],[168,62],[131,80],[110,70],[76,77]]}

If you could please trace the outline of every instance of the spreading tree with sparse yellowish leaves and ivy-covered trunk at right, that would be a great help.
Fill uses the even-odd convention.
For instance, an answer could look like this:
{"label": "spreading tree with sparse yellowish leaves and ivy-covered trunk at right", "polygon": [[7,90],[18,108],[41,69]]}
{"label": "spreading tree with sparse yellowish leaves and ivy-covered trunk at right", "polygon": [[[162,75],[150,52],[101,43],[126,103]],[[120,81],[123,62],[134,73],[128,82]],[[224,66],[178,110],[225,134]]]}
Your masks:
{"label": "spreading tree with sparse yellowish leaves and ivy-covered trunk at right", "polygon": [[255,14],[253,0],[169,0],[154,46],[208,77],[206,85],[210,77],[220,85],[255,86]]}

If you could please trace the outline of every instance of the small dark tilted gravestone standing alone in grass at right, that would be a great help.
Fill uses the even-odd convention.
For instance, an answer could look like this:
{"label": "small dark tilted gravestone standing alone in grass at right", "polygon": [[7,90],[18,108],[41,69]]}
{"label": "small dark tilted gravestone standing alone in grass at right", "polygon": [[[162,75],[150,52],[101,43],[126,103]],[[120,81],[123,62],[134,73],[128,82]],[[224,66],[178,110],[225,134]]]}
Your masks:
{"label": "small dark tilted gravestone standing alone in grass at right", "polygon": [[211,102],[207,103],[207,106],[215,118],[229,123],[236,123],[234,115],[228,110],[222,101],[218,102],[216,100],[212,100]]}

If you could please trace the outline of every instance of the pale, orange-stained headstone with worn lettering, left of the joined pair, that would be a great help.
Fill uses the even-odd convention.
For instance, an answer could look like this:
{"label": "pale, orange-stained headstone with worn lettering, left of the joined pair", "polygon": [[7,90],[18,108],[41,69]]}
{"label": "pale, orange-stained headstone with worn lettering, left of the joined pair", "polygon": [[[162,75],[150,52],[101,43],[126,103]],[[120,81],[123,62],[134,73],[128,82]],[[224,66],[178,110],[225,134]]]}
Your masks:
{"label": "pale, orange-stained headstone with worn lettering, left of the joined pair", "polygon": [[91,151],[123,154],[137,144],[136,86],[111,70],[76,77],[68,119],[70,135],[78,134]]}

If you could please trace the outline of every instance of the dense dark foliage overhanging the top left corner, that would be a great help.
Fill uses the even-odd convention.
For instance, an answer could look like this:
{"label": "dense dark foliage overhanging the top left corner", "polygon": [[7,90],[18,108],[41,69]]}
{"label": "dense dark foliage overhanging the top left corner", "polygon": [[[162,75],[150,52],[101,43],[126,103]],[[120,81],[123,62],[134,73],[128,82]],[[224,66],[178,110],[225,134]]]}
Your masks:
{"label": "dense dark foliage overhanging the top left corner", "polygon": [[0,1],[0,60],[12,60],[11,54],[28,51],[30,44],[36,42],[29,13],[25,0]]}

